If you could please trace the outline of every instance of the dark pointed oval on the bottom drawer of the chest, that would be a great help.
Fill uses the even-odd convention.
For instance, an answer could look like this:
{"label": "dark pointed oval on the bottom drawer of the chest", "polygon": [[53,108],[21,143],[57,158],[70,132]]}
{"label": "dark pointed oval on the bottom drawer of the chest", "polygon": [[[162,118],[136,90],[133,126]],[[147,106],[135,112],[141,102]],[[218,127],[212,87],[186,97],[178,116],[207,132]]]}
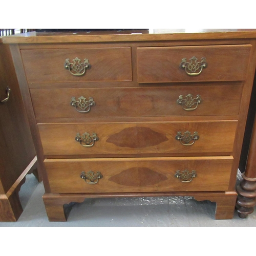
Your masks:
{"label": "dark pointed oval on the bottom drawer of the chest", "polygon": [[146,167],[133,167],[109,178],[109,181],[123,186],[155,185],[165,180],[166,176]]}

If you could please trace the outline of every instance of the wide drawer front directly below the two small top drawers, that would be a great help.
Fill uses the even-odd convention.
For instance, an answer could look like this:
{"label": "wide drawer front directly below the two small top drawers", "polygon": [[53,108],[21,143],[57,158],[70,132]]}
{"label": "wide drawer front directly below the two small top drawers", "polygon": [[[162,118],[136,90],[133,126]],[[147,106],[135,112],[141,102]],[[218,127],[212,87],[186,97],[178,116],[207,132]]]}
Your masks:
{"label": "wide drawer front directly below the two small top drawers", "polygon": [[223,85],[31,89],[30,92],[38,120],[44,118],[238,115],[242,90],[241,85]]}

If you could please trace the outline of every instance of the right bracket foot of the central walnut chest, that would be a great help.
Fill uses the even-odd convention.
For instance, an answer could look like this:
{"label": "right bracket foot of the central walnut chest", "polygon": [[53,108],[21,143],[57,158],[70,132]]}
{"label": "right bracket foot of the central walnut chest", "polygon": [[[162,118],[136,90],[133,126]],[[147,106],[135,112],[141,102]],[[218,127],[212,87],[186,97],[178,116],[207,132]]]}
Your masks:
{"label": "right bracket foot of the central walnut chest", "polygon": [[226,192],[216,193],[211,195],[194,196],[197,201],[209,200],[216,202],[215,219],[230,220],[234,216],[234,207],[236,205],[237,193]]}

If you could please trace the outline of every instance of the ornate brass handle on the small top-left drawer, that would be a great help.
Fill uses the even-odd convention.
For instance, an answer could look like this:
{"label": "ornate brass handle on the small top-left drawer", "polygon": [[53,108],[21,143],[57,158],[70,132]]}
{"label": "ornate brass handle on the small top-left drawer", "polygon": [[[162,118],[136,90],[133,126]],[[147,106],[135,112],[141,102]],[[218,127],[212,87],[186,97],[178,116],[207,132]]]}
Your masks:
{"label": "ornate brass handle on the small top-left drawer", "polygon": [[82,63],[80,63],[79,58],[74,58],[73,63],[70,62],[70,59],[66,59],[65,68],[69,70],[69,72],[73,76],[82,76],[86,73],[87,69],[91,69],[91,64],[88,62],[88,59],[84,59]]}

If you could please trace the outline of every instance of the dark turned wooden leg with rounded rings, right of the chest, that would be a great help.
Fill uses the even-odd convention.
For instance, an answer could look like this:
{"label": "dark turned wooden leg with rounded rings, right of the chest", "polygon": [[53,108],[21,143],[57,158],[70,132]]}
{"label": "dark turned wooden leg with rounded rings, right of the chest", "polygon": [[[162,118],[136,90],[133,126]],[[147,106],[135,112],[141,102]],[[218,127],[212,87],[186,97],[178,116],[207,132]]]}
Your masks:
{"label": "dark turned wooden leg with rounded rings, right of the chest", "polygon": [[240,218],[245,219],[252,214],[253,207],[256,205],[256,178],[247,178],[242,174],[243,180],[237,187],[238,199],[236,209]]}

